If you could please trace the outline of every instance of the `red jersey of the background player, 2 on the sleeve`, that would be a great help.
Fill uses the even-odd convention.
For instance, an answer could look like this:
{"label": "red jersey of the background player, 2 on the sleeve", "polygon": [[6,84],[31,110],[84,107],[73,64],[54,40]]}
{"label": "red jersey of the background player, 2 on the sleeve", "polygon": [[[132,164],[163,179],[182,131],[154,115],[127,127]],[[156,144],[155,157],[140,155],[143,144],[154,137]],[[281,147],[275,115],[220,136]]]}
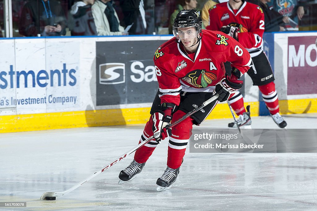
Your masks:
{"label": "red jersey of the background player, 2 on the sleeve", "polygon": [[243,47],[252,57],[262,52],[264,13],[258,5],[244,2],[239,10],[233,10],[229,2],[217,4],[209,10],[209,22],[206,29],[210,30],[220,30],[222,26],[237,23],[236,27],[240,28],[238,41]]}

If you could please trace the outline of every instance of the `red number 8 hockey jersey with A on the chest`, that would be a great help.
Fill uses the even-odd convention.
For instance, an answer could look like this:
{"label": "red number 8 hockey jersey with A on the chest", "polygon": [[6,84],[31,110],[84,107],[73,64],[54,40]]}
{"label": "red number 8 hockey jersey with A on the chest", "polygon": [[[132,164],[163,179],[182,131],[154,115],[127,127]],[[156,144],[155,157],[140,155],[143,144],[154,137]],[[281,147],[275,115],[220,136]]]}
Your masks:
{"label": "red number 8 hockey jersey with A on the chest", "polygon": [[[161,45],[154,54],[161,103],[179,105],[179,93],[212,92],[225,74],[223,62],[230,61],[241,73],[252,60],[235,39],[220,31],[203,30],[197,52],[188,56],[175,37]],[[192,58],[192,59],[191,59]]]}

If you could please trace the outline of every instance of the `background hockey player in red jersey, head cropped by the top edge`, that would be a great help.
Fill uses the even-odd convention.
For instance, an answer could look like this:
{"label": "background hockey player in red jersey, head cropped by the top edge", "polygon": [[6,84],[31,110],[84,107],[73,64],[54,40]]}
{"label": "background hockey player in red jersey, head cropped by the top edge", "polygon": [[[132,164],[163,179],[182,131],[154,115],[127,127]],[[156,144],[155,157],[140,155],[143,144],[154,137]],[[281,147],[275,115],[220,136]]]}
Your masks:
{"label": "background hockey player in red jersey, head cropped by the top edge", "polygon": [[[220,30],[230,35],[249,51],[254,65],[248,71],[248,75],[253,85],[259,87],[274,122],[281,128],[286,127],[287,124],[279,113],[278,96],[273,82],[274,74],[263,52],[264,14],[261,7],[243,0],[229,0],[210,9],[209,20],[210,24],[206,29]],[[246,112],[243,96],[239,91],[229,99],[229,103],[239,115],[238,124],[250,125],[250,112],[248,107]],[[235,124],[230,123],[228,126],[234,127]]]}

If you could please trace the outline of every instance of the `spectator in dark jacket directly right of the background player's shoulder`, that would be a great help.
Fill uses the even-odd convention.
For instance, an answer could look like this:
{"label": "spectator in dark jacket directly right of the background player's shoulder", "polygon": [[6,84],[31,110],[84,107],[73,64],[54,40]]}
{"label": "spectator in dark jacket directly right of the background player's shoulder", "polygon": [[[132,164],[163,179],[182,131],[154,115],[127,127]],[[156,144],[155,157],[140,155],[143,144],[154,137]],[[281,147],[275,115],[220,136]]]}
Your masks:
{"label": "spectator in dark jacket directly right of the background player's shoulder", "polygon": [[284,17],[277,11],[268,7],[271,0],[248,0],[250,3],[259,5],[264,13],[265,32],[285,31],[285,24],[289,23],[289,17]]}

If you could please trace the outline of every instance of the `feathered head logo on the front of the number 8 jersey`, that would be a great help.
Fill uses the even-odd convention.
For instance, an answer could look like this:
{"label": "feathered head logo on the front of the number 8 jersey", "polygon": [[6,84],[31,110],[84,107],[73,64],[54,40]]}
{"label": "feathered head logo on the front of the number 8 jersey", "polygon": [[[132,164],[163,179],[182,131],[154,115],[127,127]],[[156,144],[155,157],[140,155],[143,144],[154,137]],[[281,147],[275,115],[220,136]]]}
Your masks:
{"label": "feathered head logo on the front of the number 8 jersey", "polygon": [[203,69],[193,70],[182,79],[197,88],[206,88],[212,83],[213,80],[216,80],[217,77],[215,74],[207,72],[205,69]]}

